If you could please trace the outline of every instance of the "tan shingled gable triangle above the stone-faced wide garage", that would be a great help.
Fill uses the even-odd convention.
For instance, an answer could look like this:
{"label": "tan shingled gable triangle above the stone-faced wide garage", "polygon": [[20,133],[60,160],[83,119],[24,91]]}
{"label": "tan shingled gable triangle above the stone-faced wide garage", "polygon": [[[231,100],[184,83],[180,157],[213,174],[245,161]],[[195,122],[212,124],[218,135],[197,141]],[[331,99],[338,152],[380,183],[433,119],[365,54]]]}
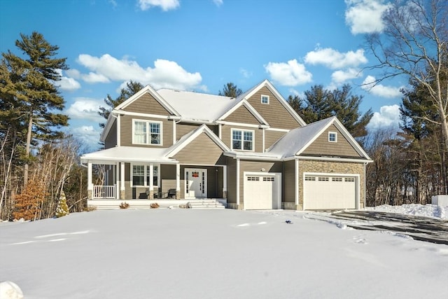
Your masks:
{"label": "tan shingled gable triangle above the stone-faced wide garage", "polygon": [[[335,137],[335,141],[329,140],[329,134]],[[328,156],[341,158],[363,158],[350,144],[343,132],[335,124],[328,126],[312,141],[300,155]]]}

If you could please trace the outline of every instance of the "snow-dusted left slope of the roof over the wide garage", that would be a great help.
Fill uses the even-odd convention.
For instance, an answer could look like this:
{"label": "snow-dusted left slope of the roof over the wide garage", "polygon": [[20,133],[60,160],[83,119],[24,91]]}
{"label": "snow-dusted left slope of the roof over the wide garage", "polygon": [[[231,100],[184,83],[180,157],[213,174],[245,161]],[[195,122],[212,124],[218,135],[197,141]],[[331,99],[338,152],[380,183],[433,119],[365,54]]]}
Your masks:
{"label": "snow-dusted left slope of the roof over the wide garage", "polygon": [[335,116],[319,120],[316,123],[305,125],[304,127],[297,127],[290,130],[273,146],[268,148],[267,153],[274,155],[281,155],[282,158],[294,156],[304,146],[306,146],[311,139],[317,136],[323,128],[335,119]]}

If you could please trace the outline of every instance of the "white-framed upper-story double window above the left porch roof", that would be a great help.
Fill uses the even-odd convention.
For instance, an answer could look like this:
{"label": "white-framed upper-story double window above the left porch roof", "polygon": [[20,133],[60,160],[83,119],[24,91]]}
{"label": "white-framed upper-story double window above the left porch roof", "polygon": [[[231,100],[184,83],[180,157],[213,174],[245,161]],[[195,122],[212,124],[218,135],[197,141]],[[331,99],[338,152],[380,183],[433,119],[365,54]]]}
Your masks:
{"label": "white-framed upper-story double window above the left porch roof", "polygon": [[162,144],[162,123],[155,120],[133,120],[132,143]]}

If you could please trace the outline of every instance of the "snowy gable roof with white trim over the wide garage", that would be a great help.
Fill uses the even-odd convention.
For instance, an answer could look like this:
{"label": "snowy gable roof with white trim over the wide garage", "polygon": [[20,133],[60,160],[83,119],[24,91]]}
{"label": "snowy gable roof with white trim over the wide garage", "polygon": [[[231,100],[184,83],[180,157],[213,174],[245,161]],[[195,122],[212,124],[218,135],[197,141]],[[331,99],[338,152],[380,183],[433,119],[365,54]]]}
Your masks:
{"label": "snowy gable roof with white trim over the wide garage", "polygon": [[337,127],[339,132],[342,133],[345,139],[349,141],[349,144],[353,146],[354,150],[360,156],[367,160],[371,160],[369,155],[365,153],[363,148],[355,139],[353,139],[349,131],[346,130],[344,125],[342,125],[335,116],[290,130],[290,132],[286,133],[281,139],[268,148],[267,153],[282,155],[283,159],[300,155],[300,153],[310,146],[323,132],[325,132],[325,130],[327,130],[328,127],[330,127],[330,125],[335,125],[335,127]]}

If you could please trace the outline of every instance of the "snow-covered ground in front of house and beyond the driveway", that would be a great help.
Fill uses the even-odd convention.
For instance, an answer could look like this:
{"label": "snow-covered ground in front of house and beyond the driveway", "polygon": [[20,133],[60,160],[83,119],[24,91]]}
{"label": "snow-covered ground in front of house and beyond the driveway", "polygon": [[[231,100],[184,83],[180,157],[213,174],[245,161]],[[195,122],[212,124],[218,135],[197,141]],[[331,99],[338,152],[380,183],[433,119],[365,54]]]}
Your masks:
{"label": "snow-covered ground in front of house and beyond the driveway", "polygon": [[[375,210],[447,218],[412,206]],[[118,209],[3,222],[0,281],[27,299],[448,298],[448,246],[309,214]]]}

